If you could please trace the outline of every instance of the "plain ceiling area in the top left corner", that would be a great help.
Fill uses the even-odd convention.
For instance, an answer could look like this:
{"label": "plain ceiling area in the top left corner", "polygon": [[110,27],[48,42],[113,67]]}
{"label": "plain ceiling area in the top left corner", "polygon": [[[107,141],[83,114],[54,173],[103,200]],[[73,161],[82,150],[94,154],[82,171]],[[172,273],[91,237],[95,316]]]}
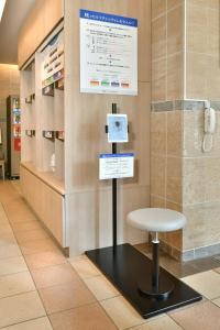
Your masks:
{"label": "plain ceiling area in the top left corner", "polygon": [[0,63],[18,64],[19,31],[34,2],[35,0],[7,0],[0,22]]}

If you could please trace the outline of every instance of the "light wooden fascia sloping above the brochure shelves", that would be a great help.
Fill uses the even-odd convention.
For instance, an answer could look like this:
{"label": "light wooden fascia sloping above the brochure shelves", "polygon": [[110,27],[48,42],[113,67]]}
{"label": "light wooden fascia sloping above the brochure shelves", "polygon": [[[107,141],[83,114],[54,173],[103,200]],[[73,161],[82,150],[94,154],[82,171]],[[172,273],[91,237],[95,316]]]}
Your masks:
{"label": "light wooden fascia sloping above the brochure shelves", "polygon": [[63,0],[36,0],[20,31],[18,61],[21,67],[64,16]]}

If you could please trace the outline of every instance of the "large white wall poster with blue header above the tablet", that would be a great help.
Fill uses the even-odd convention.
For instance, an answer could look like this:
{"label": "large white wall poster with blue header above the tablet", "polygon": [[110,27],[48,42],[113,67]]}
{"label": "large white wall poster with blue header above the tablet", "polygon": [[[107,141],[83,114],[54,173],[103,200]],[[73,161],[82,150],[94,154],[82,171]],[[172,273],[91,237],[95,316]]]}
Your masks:
{"label": "large white wall poster with blue header above the tablet", "polygon": [[80,91],[138,95],[138,20],[80,9]]}

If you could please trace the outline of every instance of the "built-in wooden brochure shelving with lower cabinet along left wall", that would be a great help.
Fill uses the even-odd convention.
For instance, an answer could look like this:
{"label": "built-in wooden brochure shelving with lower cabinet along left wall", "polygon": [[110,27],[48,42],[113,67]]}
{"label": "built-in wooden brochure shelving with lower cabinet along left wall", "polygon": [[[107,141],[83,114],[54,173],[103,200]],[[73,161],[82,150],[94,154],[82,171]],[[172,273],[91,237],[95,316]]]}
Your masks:
{"label": "built-in wooden brochure shelving with lower cabinet along left wall", "polygon": [[[59,70],[54,44],[63,47],[62,26],[21,70],[22,157],[24,198],[57,242],[67,248],[65,219],[64,62]],[[61,52],[59,52],[61,53]],[[61,56],[58,57],[61,59]],[[53,59],[53,61],[52,61]],[[45,64],[46,62],[46,64]],[[45,76],[45,66],[52,75]],[[47,73],[47,72],[46,72]],[[33,191],[36,186],[37,191]],[[51,207],[53,205],[53,208]]]}

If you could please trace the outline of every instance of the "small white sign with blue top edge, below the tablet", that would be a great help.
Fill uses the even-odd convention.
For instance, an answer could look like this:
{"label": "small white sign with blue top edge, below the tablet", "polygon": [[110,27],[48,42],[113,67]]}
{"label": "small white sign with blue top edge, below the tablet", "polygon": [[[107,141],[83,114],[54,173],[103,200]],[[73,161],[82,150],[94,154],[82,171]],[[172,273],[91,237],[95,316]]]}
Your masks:
{"label": "small white sign with blue top edge, below the tablet", "polygon": [[99,156],[99,179],[133,177],[134,154],[101,154]]}

